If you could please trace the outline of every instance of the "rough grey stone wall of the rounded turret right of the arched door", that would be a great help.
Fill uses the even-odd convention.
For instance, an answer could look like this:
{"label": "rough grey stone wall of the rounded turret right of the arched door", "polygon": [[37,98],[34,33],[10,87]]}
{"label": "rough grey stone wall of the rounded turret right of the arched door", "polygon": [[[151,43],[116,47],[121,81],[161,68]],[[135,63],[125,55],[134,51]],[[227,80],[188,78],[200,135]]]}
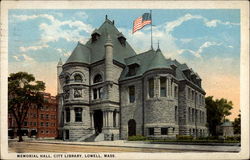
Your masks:
{"label": "rough grey stone wall of the rounded turret right of the arched door", "polygon": [[[145,127],[144,133],[149,136],[148,128],[154,128],[153,137],[166,138],[175,137],[179,133],[178,119],[175,120],[175,106],[178,107],[177,99],[172,92],[167,97],[160,96],[160,77],[170,76],[167,73],[154,72],[145,77],[144,99],[145,99]],[[148,79],[154,78],[154,97],[148,96]],[[173,77],[172,77],[173,78]],[[169,92],[168,90],[167,92]],[[173,90],[172,90],[173,91]],[[168,128],[167,135],[161,135],[161,128]]]}

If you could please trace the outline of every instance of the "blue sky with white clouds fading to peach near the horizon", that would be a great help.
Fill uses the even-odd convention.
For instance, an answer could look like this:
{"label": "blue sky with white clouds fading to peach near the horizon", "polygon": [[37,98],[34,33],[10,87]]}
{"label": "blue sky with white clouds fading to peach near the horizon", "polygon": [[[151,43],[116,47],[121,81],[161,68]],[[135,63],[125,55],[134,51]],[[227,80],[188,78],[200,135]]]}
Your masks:
{"label": "blue sky with white clouds fading to peach near the horizon", "polygon": [[[77,42],[86,43],[108,15],[137,54],[150,49],[150,25],[132,34],[133,21],[144,9],[9,10],[9,73],[26,71],[57,94],[56,66],[67,60]],[[240,106],[240,10],[152,10],[153,45],[166,58],[186,63],[202,78],[206,96]]]}

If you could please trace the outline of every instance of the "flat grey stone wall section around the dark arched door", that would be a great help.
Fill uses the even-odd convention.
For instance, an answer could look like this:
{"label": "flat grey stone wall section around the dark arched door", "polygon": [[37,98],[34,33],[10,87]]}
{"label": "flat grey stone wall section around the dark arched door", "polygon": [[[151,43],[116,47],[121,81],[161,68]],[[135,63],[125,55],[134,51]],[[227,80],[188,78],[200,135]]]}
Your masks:
{"label": "flat grey stone wall section around the dark arched door", "polygon": [[[135,86],[135,102],[129,103],[129,86]],[[121,85],[121,139],[128,137],[128,121],[136,121],[136,135],[142,135],[142,82],[127,81]]]}

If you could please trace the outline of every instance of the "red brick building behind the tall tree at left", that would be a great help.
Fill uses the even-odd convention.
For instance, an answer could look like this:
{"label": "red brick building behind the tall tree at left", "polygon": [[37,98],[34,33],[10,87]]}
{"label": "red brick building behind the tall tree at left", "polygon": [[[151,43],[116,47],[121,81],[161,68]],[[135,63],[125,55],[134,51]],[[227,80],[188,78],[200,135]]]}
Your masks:
{"label": "red brick building behind the tall tree at left", "polygon": [[[44,93],[44,98],[48,102],[42,108],[31,106],[22,126],[23,136],[36,138],[56,138],[57,129],[57,100],[49,93]],[[9,137],[17,136],[17,125],[11,113],[8,114]]]}

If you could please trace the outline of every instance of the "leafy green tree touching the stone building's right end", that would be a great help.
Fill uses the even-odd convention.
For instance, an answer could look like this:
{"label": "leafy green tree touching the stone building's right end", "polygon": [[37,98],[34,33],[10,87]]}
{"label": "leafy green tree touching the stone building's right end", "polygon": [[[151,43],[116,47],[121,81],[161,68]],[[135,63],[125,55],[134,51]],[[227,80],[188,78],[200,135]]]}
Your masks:
{"label": "leafy green tree touching the stone building's right end", "polygon": [[212,136],[217,136],[216,126],[227,121],[231,114],[233,103],[224,98],[213,100],[213,96],[206,97],[207,126]]}

